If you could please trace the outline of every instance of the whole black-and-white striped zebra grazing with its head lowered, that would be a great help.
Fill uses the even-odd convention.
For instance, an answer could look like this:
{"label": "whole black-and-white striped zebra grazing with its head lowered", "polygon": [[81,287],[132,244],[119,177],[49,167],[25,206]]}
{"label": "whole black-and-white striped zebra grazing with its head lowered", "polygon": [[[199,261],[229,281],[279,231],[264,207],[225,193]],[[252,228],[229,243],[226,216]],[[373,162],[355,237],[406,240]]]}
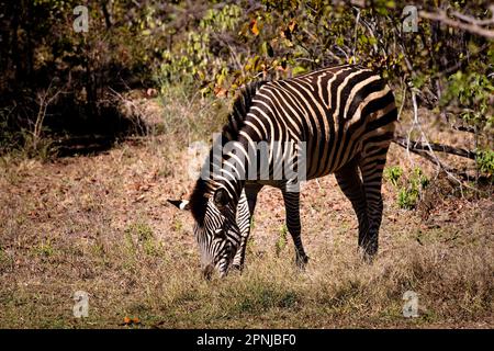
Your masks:
{"label": "whole black-and-white striped zebra grazing with its head lowered", "polygon": [[[216,269],[223,276],[231,268],[243,268],[257,194],[267,184],[281,190],[296,262],[300,267],[307,262],[301,239],[300,190],[291,186],[297,180],[287,173],[279,177],[280,159],[291,160],[296,174],[303,171],[306,180],[335,173],[357,214],[358,245],[371,259],[378,250],[382,172],[396,118],[385,81],[360,66],[328,67],[245,87],[215,144],[233,144],[229,151],[218,157],[212,149],[203,168],[210,177],[197,181],[189,201],[169,201],[192,212],[204,275]],[[268,155],[263,170],[261,148],[256,146],[262,141]],[[277,141],[290,143],[280,148],[274,147]],[[268,177],[260,177],[262,172]]]}

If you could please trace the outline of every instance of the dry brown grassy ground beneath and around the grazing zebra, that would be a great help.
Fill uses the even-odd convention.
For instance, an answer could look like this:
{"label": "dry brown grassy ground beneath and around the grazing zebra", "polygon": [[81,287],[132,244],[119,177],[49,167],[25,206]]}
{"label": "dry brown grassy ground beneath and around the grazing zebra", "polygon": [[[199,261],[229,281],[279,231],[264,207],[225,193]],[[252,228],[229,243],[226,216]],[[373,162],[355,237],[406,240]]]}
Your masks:
{"label": "dry brown grassy ground beneath and around the grazing zebra", "polygon": [[[386,183],[380,254],[368,265],[334,178],[310,182],[302,273],[290,239],[277,254],[284,210],[266,189],[246,271],[205,282],[191,218],[166,203],[193,183],[183,145],[168,133],[52,163],[3,158],[0,327],[120,328],[125,316],[160,328],[494,326],[492,199],[445,199],[423,223],[397,208]],[[405,165],[402,155],[393,146],[390,165]],[[78,290],[90,295],[88,318],[72,317]],[[418,318],[402,315],[408,290],[419,295]]]}

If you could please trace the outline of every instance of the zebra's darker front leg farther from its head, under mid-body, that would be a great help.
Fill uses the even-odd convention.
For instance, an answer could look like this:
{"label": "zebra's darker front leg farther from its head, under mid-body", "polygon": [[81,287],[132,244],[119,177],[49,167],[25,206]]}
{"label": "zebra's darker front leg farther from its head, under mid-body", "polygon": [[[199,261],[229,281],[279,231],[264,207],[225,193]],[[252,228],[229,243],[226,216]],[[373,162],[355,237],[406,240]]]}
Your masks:
{"label": "zebra's darker front leg farther from its head, under mid-body", "polygon": [[308,257],[305,254],[301,237],[300,192],[289,192],[283,188],[282,193],[287,214],[287,228],[295,245],[295,262],[296,265],[303,270],[308,261]]}

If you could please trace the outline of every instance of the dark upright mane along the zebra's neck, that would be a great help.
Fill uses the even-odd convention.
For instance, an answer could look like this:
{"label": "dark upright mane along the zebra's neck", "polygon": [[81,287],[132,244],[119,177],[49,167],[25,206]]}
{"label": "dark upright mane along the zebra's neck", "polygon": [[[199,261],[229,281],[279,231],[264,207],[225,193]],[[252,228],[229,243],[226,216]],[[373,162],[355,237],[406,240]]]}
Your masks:
{"label": "dark upright mane along the zebra's neck", "polygon": [[[238,138],[242,127],[245,125],[245,118],[252,105],[254,97],[261,86],[267,81],[256,81],[244,86],[234,100],[232,110],[228,114],[228,122],[222,129],[222,146],[231,140]],[[206,159],[206,163],[203,166],[212,171],[211,160],[213,159],[213,148],[210,150],[210,157]],[[210,173],[211,174],[211,173]],[[204,216],[206,211],[207,200],[216,189],[216,184],[212,179],[199,178],[195,182],[195,186],[190,196],[190,208],[195,222],[203,226]]]}

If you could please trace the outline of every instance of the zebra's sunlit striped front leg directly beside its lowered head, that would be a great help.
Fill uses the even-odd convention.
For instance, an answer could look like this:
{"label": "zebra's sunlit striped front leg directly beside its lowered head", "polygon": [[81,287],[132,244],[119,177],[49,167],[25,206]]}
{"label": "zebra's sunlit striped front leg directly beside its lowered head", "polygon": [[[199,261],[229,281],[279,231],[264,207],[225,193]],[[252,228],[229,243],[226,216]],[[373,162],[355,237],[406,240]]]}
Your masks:
{"label": "zebra's sunlit striped front leg directly beside its lowered head", "polygon": [[240,196],[237,207],[237,225],[240,229],[240,246],[235,253],[232,269],[243,271],[245,262],[245,250],[247,248],[247,239],[250,235],[250,219],[256,208],[257,194],[261,190],[262,185],[259,184],[246,184],[244,192]]}

